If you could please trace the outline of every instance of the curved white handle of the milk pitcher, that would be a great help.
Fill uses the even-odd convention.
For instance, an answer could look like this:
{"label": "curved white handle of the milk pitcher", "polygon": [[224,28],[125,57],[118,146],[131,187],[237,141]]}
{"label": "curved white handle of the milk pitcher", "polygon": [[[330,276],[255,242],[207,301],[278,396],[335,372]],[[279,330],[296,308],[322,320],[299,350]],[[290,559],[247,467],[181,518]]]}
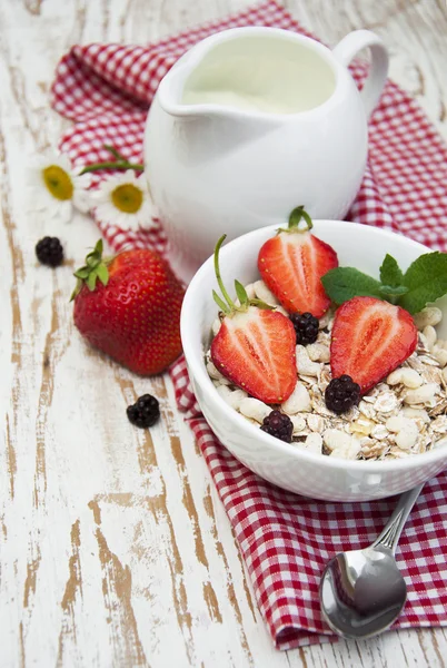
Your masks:
{"label": "curved white handle of the milk pitcher", "polygon": [[379,101],[388,75],[388,51],[383,40],[370,30],[355,30],[338,42],[332,53],[341,65],[348,67],[352,58],[368,47],[371,53],[371,66],[360,96],[369,118]]}

